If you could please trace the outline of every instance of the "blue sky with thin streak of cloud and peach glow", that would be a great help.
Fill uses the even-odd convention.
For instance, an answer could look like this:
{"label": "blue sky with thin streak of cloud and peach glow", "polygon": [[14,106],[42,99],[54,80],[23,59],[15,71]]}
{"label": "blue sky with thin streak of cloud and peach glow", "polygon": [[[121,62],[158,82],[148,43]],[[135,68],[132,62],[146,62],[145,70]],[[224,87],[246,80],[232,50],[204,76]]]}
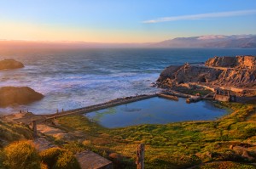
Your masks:
{"label": "blue sky with thin streak of cloud and peach glow", "polygon": [[160,42],[256,34],[255,0],[0,0],[0,39]]}

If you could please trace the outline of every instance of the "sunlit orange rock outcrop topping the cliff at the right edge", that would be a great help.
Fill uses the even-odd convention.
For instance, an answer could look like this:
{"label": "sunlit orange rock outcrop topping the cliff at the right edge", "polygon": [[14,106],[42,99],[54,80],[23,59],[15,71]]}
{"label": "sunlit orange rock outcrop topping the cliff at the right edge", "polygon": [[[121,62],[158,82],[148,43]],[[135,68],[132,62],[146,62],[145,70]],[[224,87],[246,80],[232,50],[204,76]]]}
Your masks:
{"label": "sunlit orange rock outcrop topping the cliff at the right edge", "polygon": [[255,56],[236,56],[236,57],[214,57],[208,59],[206,64],[210,67],[227,67],[236,69],[256,69]]}

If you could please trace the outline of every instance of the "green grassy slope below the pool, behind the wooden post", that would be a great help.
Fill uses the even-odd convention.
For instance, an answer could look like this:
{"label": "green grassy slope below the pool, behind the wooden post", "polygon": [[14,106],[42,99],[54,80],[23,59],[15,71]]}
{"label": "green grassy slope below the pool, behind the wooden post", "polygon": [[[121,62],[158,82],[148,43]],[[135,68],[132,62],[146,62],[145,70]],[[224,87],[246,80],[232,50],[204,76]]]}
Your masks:
{"label": "green grassy slope below the pool, behind the wooden post", "polygon": [[[108,129],[83,115],[61,117],[61,127],[87,135],[84,144],[100,152],[135,158],[137,144],[146,144],[146,168],[183,168],[207,161],[244,161],[230,144],[255,143],[256,114],[253,104],[218,104],[232,113],[217,121],[177,122]],[[211,152],[212,157],[207,155]],[[250,168],[250,167],[249,167]]]}

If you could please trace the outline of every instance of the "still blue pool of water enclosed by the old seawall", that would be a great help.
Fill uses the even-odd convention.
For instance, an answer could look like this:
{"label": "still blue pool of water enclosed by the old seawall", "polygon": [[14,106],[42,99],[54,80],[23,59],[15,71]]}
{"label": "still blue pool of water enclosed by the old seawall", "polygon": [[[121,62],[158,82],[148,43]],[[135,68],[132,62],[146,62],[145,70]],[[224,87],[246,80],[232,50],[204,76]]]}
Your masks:
{"label": "still blue pool of water enclosed by the old seawall", "polygon": [[186,99],[172,101],[154,97],[94,111],[85,116],[103,127],[114,128],[177,121],[214,120],[226,113],[226,110],[214,107],[208,101],[187,104]]}

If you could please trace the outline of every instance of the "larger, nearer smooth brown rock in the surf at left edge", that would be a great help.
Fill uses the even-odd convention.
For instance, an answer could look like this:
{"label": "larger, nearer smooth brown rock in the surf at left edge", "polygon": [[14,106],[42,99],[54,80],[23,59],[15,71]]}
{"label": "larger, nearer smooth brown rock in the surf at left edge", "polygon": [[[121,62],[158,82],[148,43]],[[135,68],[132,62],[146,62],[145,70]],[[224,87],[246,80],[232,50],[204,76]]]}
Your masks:
{"label": "larger, nearer smooth brown rock in the surf at left edge", "polygon": [[30,104],[43,98],[43,94],[35,92],[30,87],[0,87],[1,107],[11,104]]}

